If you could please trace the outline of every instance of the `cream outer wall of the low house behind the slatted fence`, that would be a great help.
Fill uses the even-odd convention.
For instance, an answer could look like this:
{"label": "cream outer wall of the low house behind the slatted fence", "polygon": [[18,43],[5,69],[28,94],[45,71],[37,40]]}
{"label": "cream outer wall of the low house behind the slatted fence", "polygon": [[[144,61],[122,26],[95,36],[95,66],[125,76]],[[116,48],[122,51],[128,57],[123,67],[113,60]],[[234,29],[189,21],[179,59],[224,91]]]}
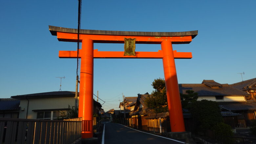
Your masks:
{"label": "cream outer wall of the low house behind the slatted fence", "polygon": [[[27,105],[27,99],[20,100],[19,118],[26,118]],[[28,119],[36,119],[36,112],[32,110],[65,109],[69,105],[70,107],[75,106],[75,97],[29,98]]]}

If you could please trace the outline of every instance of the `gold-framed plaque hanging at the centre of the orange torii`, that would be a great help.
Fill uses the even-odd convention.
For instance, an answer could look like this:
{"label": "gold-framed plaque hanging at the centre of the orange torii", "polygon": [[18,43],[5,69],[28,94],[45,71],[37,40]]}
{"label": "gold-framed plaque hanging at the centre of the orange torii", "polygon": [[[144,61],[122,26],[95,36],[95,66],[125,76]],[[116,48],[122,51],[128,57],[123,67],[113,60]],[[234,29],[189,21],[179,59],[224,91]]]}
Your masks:
{"label": "gold-framed plaque hanging at the centre of the orange torii", "polygon": [[136,38],[124,38],[124,54],[135,56],[135,41]]}

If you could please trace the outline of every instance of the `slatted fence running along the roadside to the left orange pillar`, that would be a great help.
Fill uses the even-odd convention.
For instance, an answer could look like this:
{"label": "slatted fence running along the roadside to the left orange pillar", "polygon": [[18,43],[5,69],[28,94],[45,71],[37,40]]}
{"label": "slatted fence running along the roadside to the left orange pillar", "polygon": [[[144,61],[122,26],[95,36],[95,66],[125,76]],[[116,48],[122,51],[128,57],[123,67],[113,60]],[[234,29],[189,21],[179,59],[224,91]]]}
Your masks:
{"label": "slatted fence running along the roadside to the left orange pillar", "polygon": [[71,144],[81,121],[0,118],[0,144]]}

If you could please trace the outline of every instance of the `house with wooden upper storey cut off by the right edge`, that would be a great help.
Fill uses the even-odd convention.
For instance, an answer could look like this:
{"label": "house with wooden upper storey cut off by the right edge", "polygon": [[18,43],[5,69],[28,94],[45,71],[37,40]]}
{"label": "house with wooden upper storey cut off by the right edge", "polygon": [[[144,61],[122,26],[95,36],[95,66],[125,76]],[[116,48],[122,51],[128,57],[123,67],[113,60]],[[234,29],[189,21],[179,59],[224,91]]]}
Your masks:
{"label": "house with wooden upper storey cut off by the right edge", "polygon": [[256,78],[230,84],[231,87],[249,93],[250,96],[246,100],[256,100]]}

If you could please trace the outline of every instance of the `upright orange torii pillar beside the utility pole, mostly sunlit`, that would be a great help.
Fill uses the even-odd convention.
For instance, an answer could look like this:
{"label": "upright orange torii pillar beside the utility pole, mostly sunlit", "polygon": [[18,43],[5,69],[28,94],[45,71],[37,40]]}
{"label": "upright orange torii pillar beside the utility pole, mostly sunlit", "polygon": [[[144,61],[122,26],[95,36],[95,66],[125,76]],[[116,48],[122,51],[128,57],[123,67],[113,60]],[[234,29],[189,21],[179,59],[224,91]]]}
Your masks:
{"label": "upright orange torii pillar beside the utility pole, mostly sunlit", "polygon": [[78,117],[82,138],[93,137],[93,40],[82,40]]}

